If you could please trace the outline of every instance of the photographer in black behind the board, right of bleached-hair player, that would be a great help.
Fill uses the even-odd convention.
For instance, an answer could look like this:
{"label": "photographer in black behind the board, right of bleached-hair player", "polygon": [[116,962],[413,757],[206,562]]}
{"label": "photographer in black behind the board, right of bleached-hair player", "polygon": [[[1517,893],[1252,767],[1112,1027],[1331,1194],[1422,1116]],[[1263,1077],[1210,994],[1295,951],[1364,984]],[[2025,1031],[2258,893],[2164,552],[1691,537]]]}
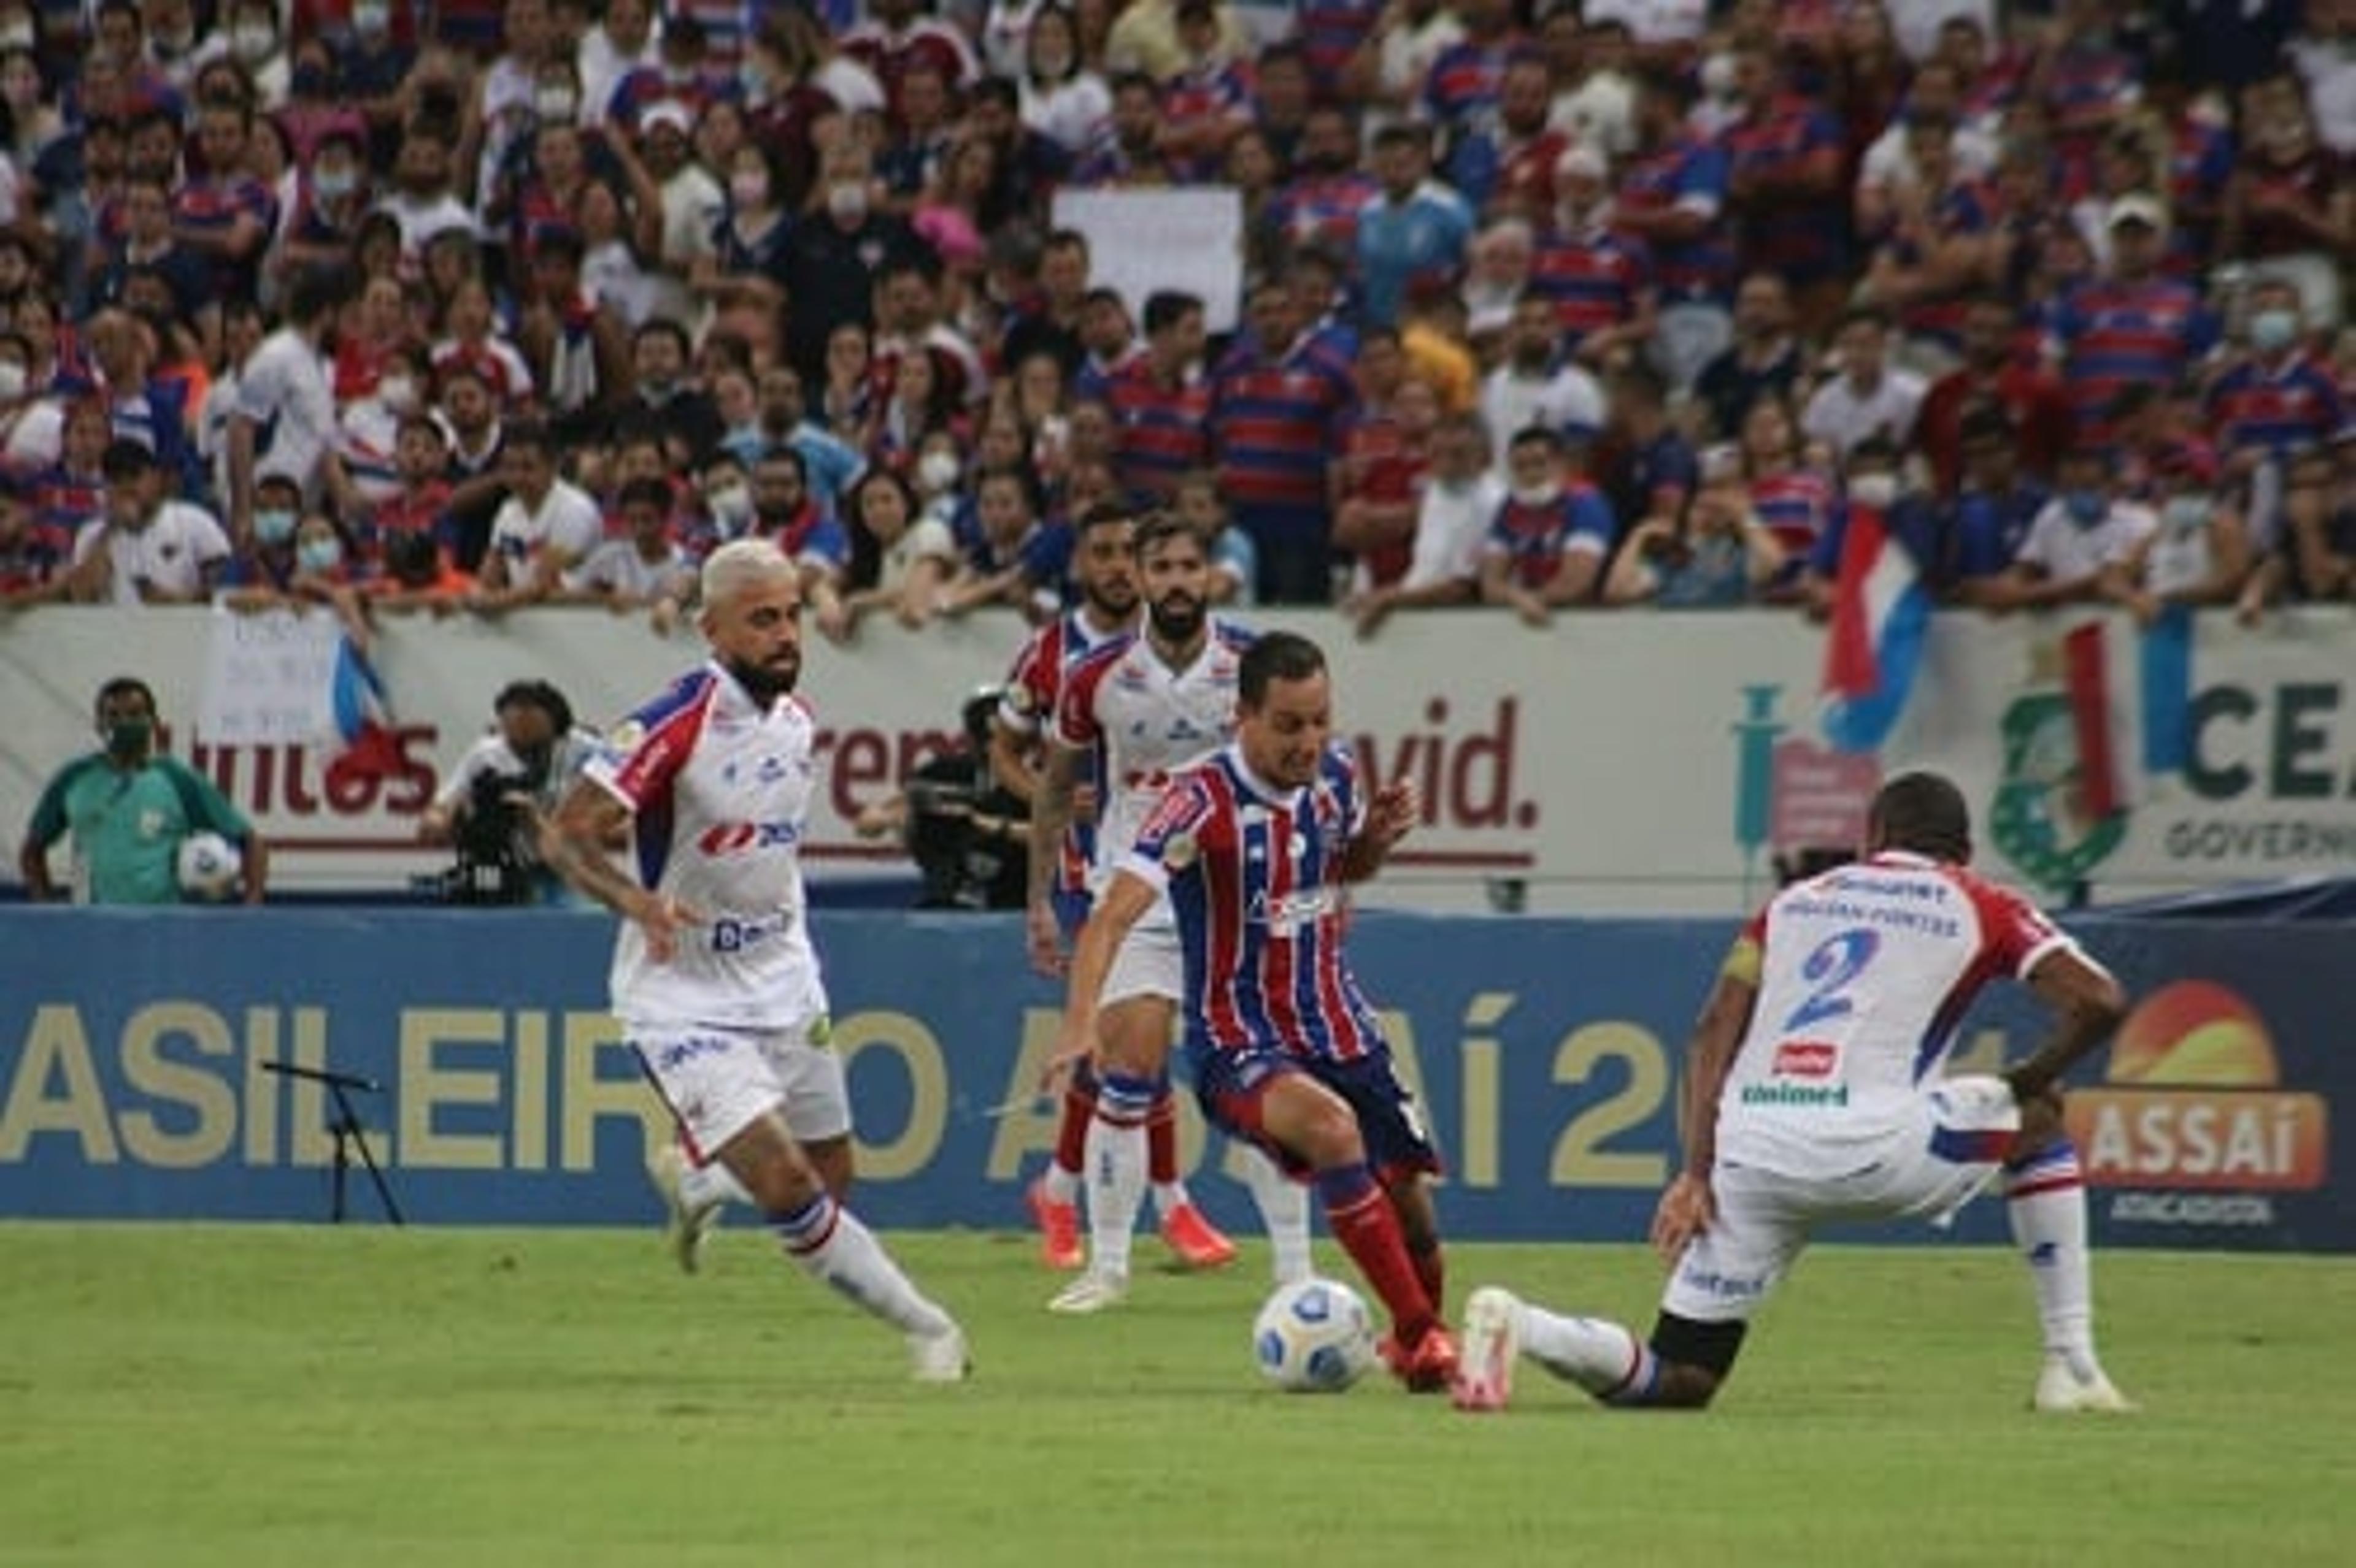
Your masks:
{"label": "photographer in black behind the board, right of bleached-hair player", "polygon": [[999,687],[966,699],[966,744],[935,756],[907,786],[860,812],[860,838],[900,833],[924,873],[916,909],[1023,909],[1030,808],[990,777],[990,723]]}

